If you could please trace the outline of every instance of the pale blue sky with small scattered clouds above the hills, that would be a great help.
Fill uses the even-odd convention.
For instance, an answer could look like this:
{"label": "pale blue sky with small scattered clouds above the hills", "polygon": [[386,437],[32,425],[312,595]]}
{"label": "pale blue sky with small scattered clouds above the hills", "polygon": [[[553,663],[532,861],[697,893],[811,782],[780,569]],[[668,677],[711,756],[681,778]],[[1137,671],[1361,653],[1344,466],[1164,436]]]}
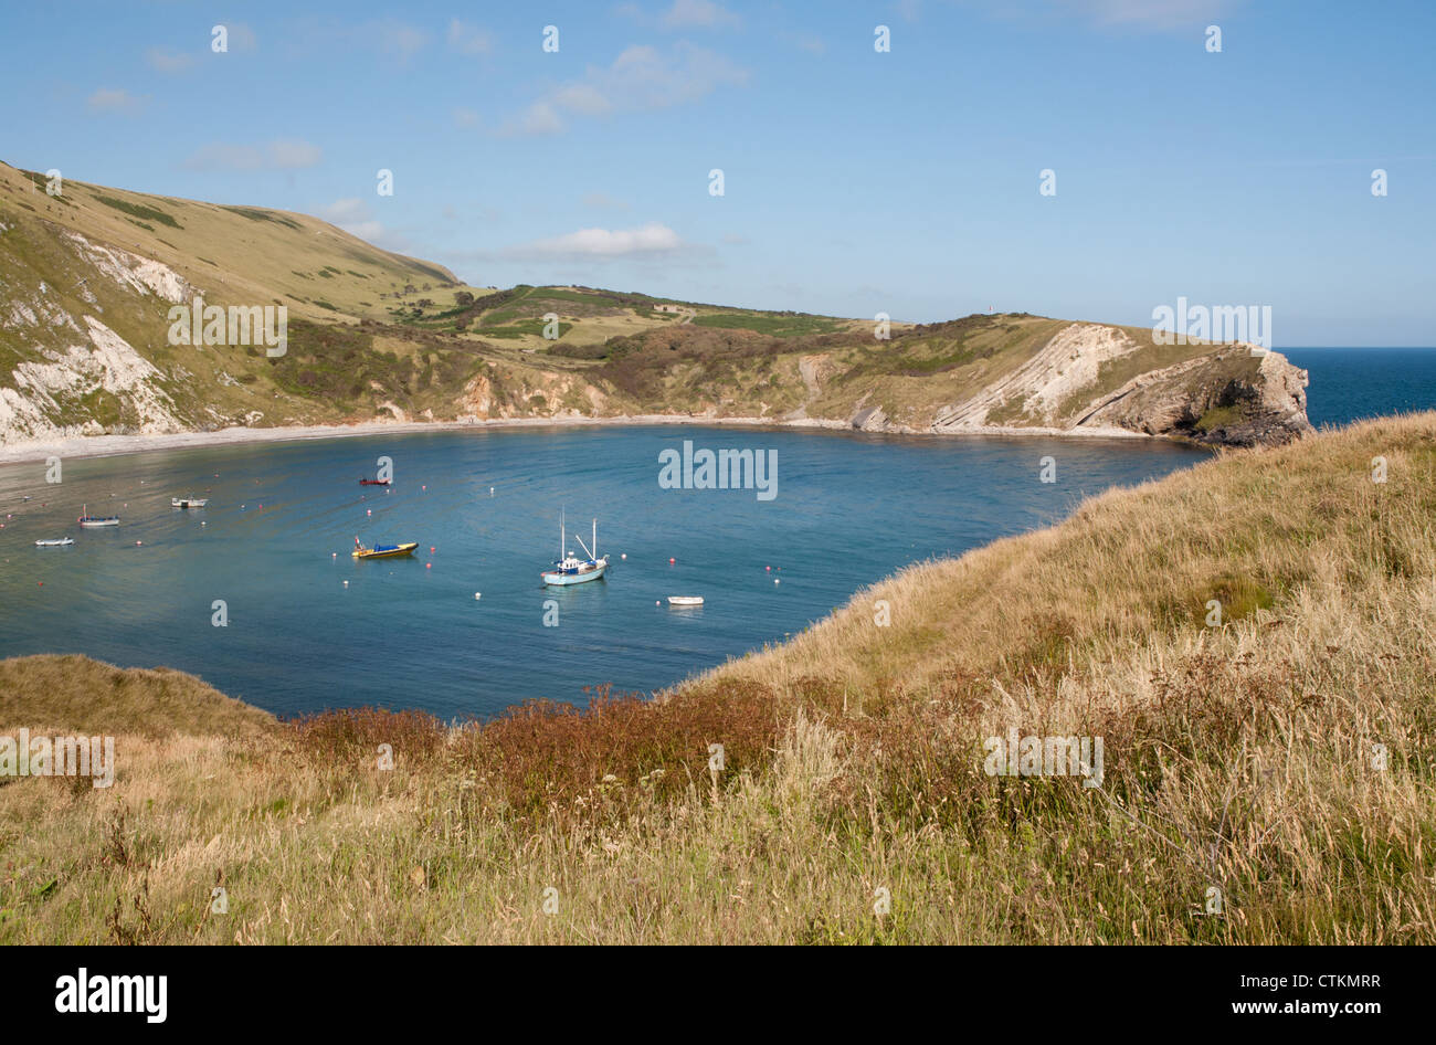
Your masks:
{"label": "pale blue sky with small scattered clouds above the hills", "polygon": [[1269,304],[1278,347],[1436,345],[1432,3],[136,1],[0,17],[0,159],[319,214],[477,284],[1143,326],[1180,296]]}

